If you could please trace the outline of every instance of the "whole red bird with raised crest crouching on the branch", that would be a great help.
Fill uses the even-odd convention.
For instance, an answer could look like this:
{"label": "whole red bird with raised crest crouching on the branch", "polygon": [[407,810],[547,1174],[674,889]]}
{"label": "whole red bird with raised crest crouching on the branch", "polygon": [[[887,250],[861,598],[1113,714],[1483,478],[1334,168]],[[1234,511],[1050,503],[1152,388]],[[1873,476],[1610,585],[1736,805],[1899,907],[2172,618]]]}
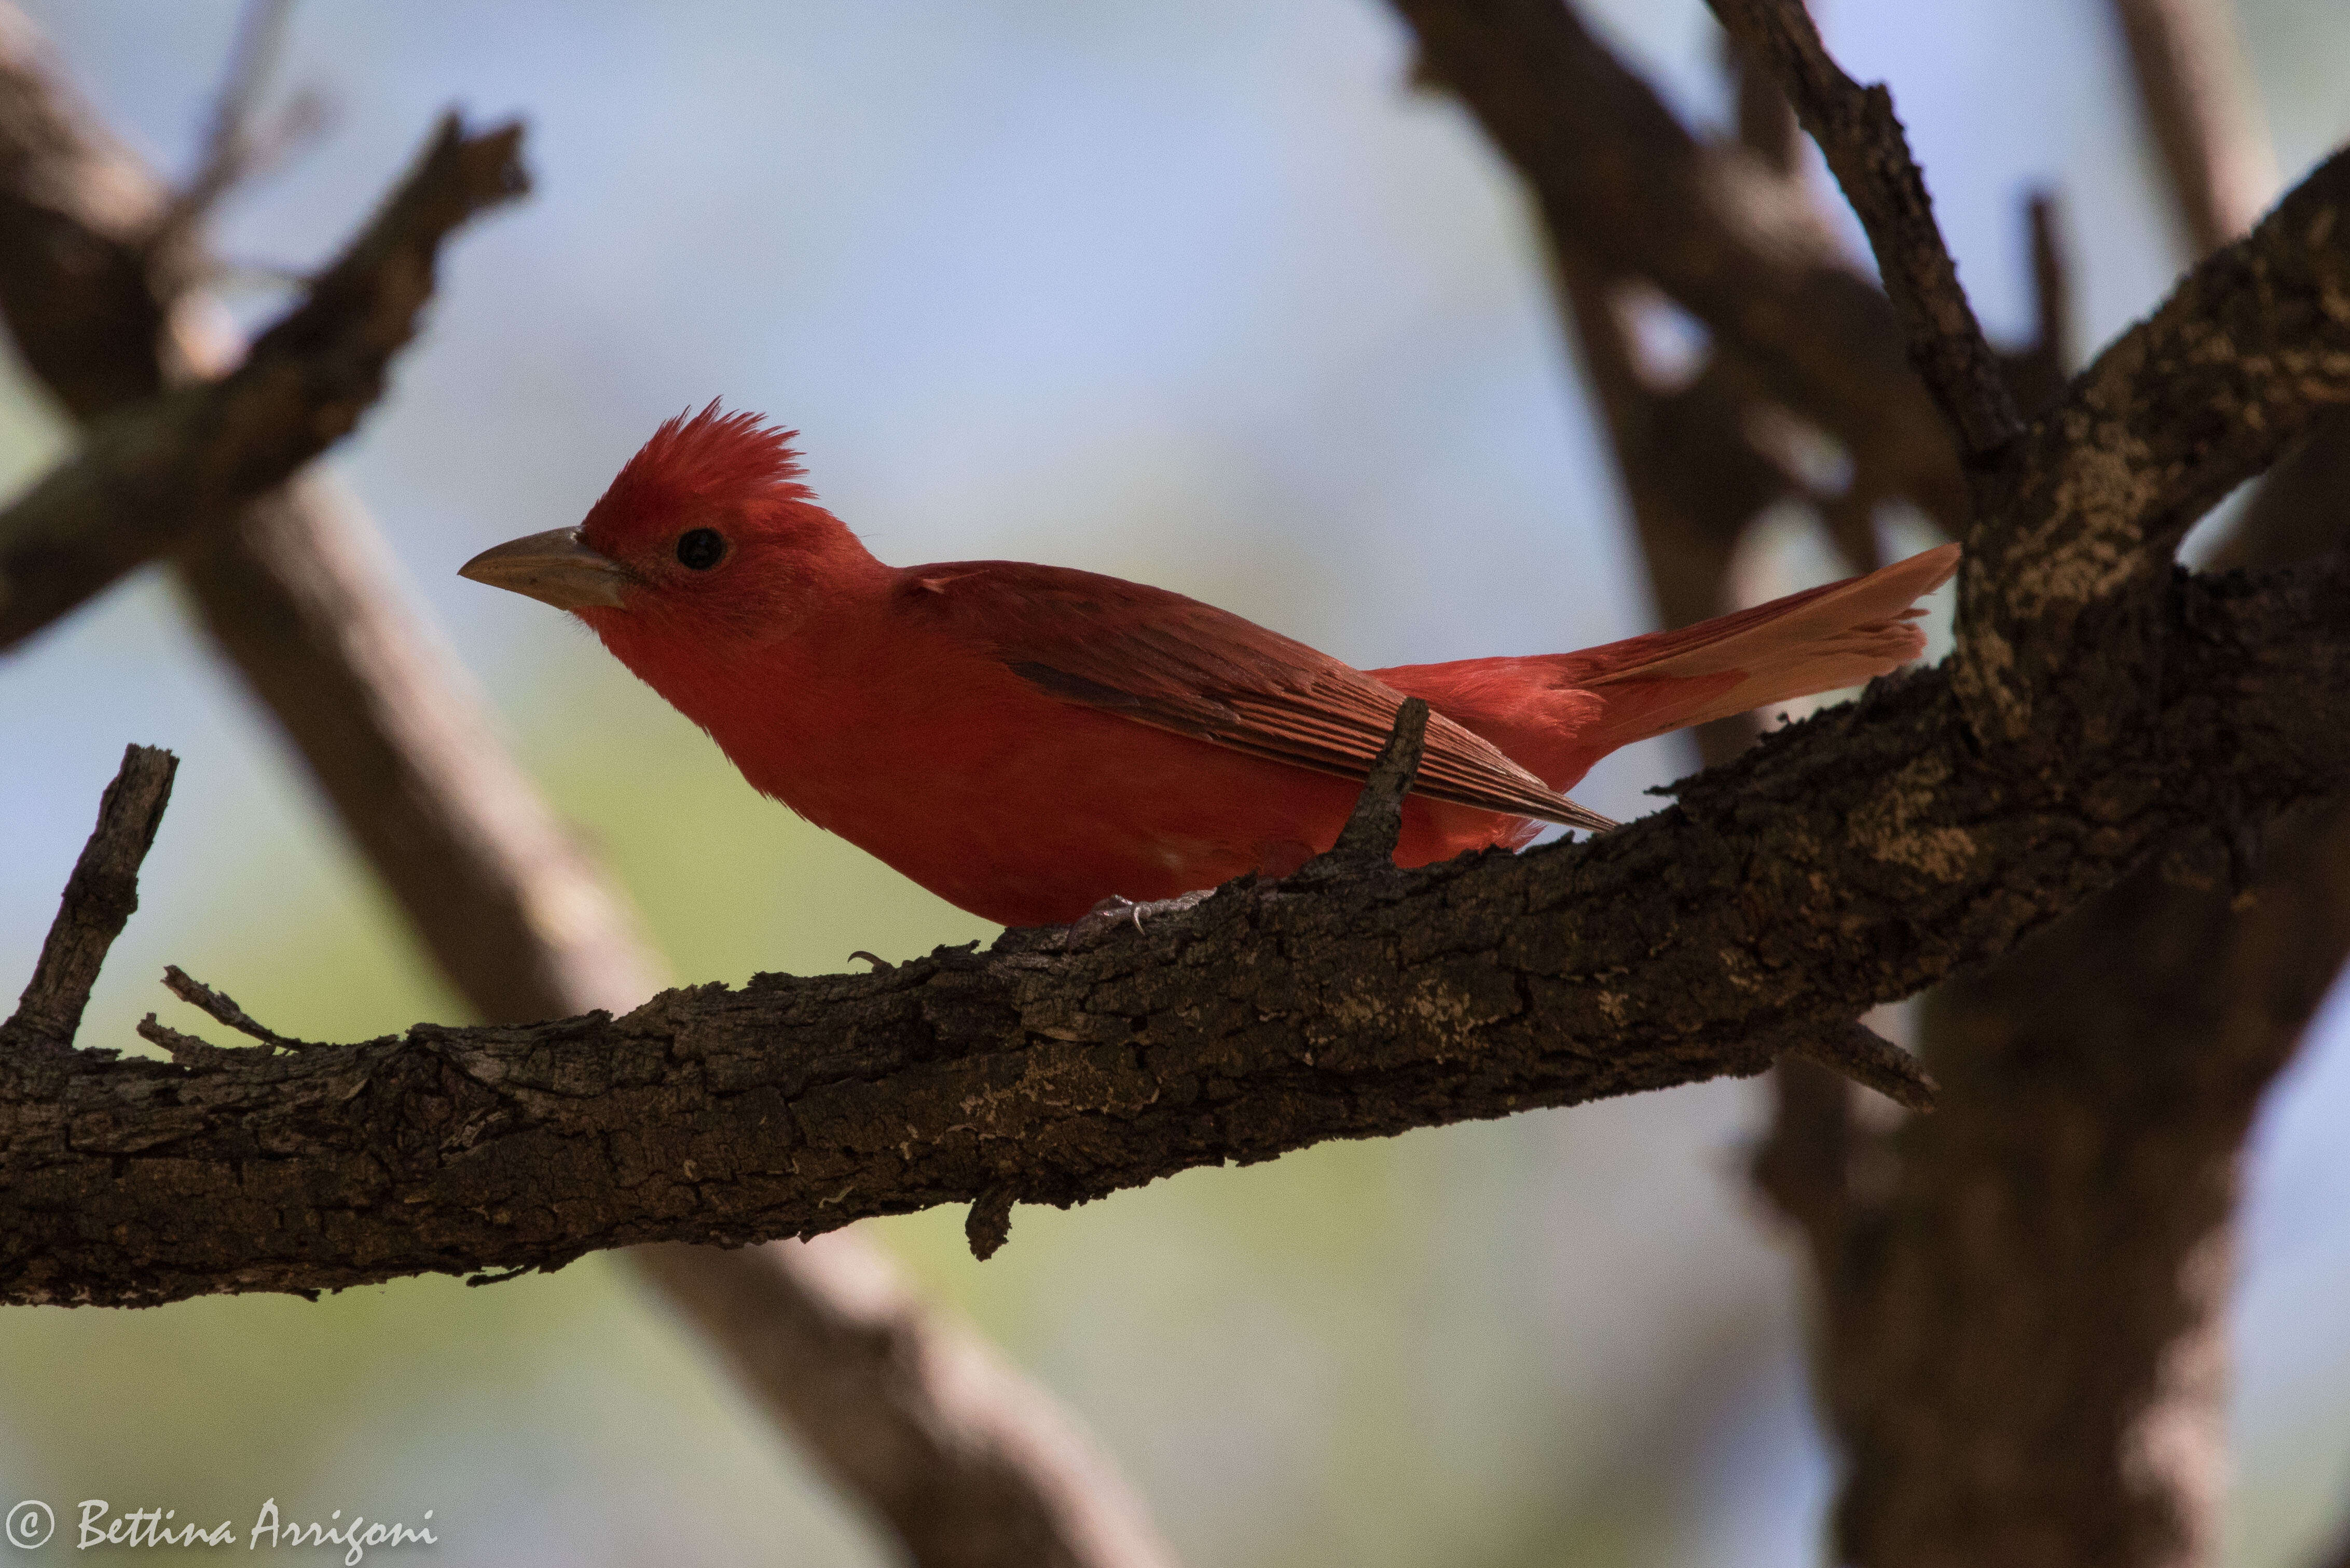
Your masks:
{"label": "whole red bird with raised crest crouching on the branch", "polygon": [[1354,670],[1093,571],[884,567],[799,482],[792,430],[665,423],[578,529],[465,562],[569,609],[743,776],[1008,926],[1170,898],[1328,849],[1405,696],[1434,710],[1401,865],[1542,823],[1619,745],[1915,658],[1958,548],[1582,654]]}

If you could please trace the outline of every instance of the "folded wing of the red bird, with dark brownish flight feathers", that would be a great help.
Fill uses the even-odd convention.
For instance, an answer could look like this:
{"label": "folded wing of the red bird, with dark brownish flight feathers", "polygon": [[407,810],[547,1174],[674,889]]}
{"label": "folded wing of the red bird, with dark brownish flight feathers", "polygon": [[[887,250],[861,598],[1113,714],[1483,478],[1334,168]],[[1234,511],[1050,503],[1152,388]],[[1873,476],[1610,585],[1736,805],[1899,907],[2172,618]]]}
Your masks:
{"label": "folded wing of the red bird, with dark brownish flight feathers", "polygon": [[[1123,578],[947,562],[909,567],[900,607],[1039,691],[1340,778],[1365,778],[1403,693],[1253,621]],[[1567,827],[1614,827],[1490,741],[1429,715],[1415,795]]]}

